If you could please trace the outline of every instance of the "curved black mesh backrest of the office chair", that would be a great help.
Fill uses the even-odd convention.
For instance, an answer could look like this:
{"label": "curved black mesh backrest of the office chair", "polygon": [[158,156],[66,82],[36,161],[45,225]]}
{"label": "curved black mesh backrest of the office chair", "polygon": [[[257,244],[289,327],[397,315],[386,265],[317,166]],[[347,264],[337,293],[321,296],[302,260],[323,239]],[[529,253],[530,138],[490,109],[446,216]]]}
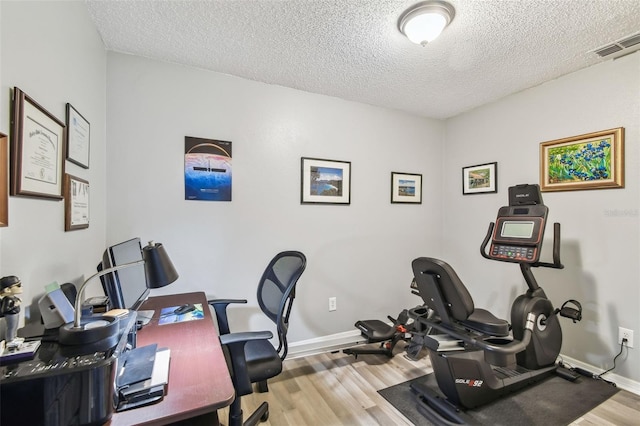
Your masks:
{"label": "curved black mesh backrest of the office chair", "polygon": [[307,266],[307,258],[299,251],[278,253],[269,263],[258,284],[258,304],[277,327],[278,354],[287,356],[289,314],[296,297],[296,283]]}

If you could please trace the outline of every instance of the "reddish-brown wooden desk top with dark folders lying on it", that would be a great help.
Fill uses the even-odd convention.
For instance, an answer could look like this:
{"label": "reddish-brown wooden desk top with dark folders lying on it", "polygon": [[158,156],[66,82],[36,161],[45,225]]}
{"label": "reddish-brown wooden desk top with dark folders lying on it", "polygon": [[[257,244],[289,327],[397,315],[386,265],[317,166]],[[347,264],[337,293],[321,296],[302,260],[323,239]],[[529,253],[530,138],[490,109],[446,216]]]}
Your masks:
{"label": "reddish-brown wooden desk top with dark folders lying on it", "polygon": [[[158,325],[162,308],[201,303],[204,319]],[[140,308],[153,319],[138,331],[137,346],[157,343],[171,349],[169,384],[156,404],[114,413],[110,425],[167,424],[194,416],[215,416],[234,399],[235,391],[204,293],[150,297]]]}

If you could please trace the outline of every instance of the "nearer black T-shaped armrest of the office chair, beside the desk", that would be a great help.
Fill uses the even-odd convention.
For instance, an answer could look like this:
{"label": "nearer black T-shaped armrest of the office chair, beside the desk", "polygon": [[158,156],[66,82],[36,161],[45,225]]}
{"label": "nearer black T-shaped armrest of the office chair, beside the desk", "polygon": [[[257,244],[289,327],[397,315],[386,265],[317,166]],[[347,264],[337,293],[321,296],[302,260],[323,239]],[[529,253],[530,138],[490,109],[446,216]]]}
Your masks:
{"label": "nearer black T-shaped armrest of the office chair, beside the desk", "polygon": [[220,343],[228,349],[231,357],[231,377],[236,389],[236,396],[248,395],[252,392],[244,346],[249,341],[269,340],[272,337],[273,333],[270,331],[246,331],[220,336]]}

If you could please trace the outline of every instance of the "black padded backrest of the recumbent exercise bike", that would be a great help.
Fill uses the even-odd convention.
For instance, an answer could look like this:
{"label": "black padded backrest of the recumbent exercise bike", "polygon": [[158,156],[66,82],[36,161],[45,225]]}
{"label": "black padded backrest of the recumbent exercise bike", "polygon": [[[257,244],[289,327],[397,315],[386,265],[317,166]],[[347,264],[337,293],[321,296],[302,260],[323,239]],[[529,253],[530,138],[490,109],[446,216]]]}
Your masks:
{"label": "black padded backrest of the recumbent exercise bike", "polygon": [[[438,316],[464,321],[473,313],[475,307],[471,294],[448,263],[419,257],[411,266],[420,296]],[[439,303],[440,298],[442,304]]]}

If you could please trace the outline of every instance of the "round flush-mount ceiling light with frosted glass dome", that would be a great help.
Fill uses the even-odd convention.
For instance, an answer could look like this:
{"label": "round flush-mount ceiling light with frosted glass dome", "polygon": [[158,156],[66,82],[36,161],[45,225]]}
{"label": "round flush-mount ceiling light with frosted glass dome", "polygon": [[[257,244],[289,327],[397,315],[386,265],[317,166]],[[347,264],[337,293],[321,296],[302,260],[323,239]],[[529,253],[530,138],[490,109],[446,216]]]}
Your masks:
{"label": "round flush-mount ceiling light with frosted glass dome", "polygon": [[412,42],[426,46],[453,21],[455,14],[449,3],[423,1],[404,11],[398,20],[398,29]]}

